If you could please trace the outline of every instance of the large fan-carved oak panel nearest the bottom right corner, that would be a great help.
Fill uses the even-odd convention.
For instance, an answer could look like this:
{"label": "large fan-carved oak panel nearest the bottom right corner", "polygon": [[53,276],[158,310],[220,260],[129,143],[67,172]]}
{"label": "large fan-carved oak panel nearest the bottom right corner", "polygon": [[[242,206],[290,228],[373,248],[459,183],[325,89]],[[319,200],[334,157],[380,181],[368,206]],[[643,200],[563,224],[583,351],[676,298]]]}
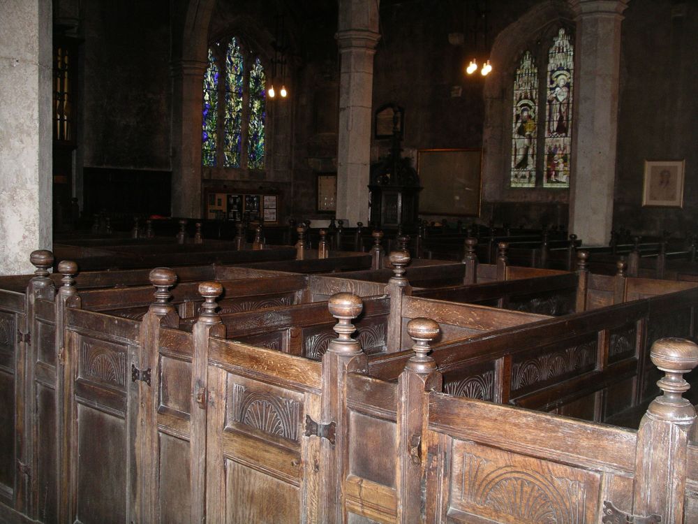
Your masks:
{"label": "large fan-carved oak panel nearest the bottom right corner", "polygon": [[454,445],[451,507],[507,524],[595,521],[600,475],[480,446]]}

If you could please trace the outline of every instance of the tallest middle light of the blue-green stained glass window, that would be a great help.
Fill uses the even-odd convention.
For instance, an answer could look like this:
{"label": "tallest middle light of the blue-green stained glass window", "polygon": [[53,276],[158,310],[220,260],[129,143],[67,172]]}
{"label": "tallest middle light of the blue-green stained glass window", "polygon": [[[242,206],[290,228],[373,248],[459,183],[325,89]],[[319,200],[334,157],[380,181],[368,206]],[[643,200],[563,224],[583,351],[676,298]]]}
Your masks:
{"label": "tallest middle light of the blue-green stained glass window", "polygon": [[242,156],[242,92],[244,61],[237,38],[231,38],[225,52],[225,143],[226,168],[239,168]]}

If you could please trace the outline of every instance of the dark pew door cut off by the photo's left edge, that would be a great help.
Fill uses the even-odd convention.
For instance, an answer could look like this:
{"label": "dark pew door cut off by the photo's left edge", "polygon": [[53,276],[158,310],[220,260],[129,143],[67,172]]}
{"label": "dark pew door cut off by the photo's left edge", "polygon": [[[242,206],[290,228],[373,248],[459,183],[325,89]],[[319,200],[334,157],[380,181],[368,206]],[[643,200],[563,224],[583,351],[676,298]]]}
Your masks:
{"label": "dark pew door cut off by the photo's left edge", "polygon": [[[15,507],[18,464],[24,444],[23,392],[24,341],[19,336],[24,322],[24,295],[12,291],[0,293],[0,502]],[[16,415],[16,417],[15,417]],[[15,424],[16,434],[15,442]]]}

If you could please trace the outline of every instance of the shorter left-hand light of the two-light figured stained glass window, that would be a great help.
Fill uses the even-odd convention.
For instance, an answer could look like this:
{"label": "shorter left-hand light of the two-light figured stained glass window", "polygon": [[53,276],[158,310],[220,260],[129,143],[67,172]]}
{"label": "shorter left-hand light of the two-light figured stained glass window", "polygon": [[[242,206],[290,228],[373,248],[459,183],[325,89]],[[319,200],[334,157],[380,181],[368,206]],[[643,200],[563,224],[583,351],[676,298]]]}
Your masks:
{"label": "shorter left-hand light of the two-light figured stained glass window", "polygon": [[512,119],[512,187],[535,187],[538,68],[530,51],[523,53],[514,78]]}

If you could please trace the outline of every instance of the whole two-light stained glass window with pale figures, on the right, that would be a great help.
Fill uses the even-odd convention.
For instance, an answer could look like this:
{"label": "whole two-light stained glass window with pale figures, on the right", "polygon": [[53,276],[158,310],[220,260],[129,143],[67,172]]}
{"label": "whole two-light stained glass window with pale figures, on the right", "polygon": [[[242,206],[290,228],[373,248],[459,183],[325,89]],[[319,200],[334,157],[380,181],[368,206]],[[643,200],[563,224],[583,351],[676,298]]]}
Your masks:
{"label": "whole two-light stained glass window with pale figures, on the right", "polygon": [[[523,52],[514,75],[511,187],[570,187],[574,50],[564,28],[544,59],[542,75],[534,54]],[[538,155],[540,142],[543,158]],[[539,171],[542,176],[537,177]]]}

